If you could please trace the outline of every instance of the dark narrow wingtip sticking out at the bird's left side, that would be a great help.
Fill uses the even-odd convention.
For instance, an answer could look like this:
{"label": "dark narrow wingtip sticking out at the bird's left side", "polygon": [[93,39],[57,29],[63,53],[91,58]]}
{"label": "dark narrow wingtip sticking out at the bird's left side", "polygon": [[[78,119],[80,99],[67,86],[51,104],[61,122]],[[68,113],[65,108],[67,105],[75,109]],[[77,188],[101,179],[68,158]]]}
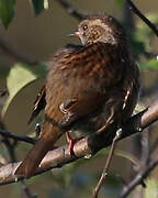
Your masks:
{"label": "dark narrow wingtip sticking out at the bird's left side", "polygon": [[43,88],[38,92],[36,100],[34,102],[33,111],[32,111],[31,118],[27,122],[29,124],[38,116],[41,110],[45,108],[45,106],[46,106],[45,96],[46,96],[46,88],[45,88],[45,86],[43,86]]}

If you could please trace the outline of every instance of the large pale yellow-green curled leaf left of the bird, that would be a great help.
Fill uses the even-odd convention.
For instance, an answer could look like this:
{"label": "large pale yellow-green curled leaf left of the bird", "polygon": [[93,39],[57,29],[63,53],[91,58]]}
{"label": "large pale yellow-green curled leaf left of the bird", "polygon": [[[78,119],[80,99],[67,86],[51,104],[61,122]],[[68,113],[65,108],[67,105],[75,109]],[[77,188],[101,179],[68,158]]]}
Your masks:
{"label": "large pale yellow-green curled leaf left of the bird", "polygon": [[9,91],[9,98],[2,109],[2,116],[4,116],[9,105],[13,98],[27,85],[36,80],[37,78],[46,75],[46,65],[41,64],[36,66],[29,66],[25,64],[15,64],[8,77],[7,86]]}

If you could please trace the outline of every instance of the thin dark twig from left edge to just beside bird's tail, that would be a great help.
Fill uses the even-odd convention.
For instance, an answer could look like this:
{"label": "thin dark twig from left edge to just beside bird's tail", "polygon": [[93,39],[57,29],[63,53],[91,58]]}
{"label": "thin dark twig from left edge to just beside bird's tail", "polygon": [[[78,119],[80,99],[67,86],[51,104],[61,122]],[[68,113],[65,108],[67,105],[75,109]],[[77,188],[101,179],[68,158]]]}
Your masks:
{"label": "thin dark twig from left edge to just beside bird's tail", "polygon": [[26,136],[26,135],[16,135],[16,134],[13,134],[9,131],[5,131],[5,130],[2,130],[0,129],[0,135],[4,136],[4,138],[9,138],[9,139],[13,139],[15,141],[22,141],[22,142],[26,142],[26,143],[30,143],[30,144],[34,144],[35,143],[35,139],[32,139],[30,136]]}

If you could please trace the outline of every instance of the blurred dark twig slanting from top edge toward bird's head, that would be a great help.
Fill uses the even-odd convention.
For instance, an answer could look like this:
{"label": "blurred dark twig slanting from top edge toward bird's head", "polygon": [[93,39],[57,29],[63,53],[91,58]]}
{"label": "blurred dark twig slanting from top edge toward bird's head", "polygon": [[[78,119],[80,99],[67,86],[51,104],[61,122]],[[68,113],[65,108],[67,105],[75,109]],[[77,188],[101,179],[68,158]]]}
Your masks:
{"label": "blurred dark twig slanting from top edge toward bird's head", "polygon": [[58,3],[74,18],[81,21],[84,18],[84,14],[80,13],[75,9],[67,0],[57,0]]}

